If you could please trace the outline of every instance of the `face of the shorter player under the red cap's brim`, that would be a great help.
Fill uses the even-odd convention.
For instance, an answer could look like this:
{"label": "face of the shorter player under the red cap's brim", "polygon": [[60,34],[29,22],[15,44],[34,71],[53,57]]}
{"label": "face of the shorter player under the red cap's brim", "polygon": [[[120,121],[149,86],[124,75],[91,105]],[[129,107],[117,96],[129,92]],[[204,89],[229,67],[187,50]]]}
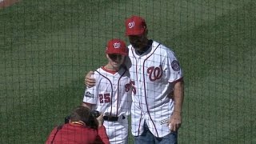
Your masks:
{"label": "face of the shorter player under the red cap's brim", "polygon": [[106,58],[108,58],[111,66],[113,66],[114,68],[118,68],[122,65],[126,56],[121,54],[106,54]]}

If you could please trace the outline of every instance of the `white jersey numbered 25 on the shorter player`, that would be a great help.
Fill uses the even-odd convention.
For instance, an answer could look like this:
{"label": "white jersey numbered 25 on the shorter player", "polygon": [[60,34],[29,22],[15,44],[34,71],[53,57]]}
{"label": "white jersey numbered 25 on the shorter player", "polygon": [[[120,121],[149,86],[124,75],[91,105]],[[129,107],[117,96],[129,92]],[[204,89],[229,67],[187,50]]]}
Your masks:
{"label": "white jersey numbered 25 on the shorter player", "polygon": [[131,90],[128,70],[121,68],[117,73],[111,74],[98,68],[92,77],[95,78],[96,84],[86,88],[83,102],[95,104],[93,110],[98,110],[103,115],[129,115]]}

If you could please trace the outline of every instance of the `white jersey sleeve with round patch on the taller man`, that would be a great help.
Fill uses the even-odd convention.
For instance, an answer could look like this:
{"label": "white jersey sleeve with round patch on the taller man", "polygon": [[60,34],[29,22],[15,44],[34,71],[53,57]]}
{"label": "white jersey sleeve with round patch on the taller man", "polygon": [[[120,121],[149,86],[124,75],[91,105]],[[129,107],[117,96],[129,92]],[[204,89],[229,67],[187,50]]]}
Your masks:
{"label": "white jersey sleeve with round patch on the taller man", "polygon": [[183,77],[182,68],[173,51],[167,50],[166,58],[163,60],[163,66],[168,82],[175,82]]}

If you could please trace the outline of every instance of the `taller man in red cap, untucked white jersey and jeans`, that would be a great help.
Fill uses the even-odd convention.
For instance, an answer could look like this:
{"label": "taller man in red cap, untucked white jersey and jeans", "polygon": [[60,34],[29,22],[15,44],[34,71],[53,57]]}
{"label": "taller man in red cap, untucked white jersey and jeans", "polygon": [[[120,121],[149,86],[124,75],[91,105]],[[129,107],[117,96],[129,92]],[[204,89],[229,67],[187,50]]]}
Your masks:
{"label": "taller man in red cap, untucked white jersey and jeans", "polygon": [[[146,22],[138,16],[126,19],[130,41],[126,62],[132,86],[131,124],[136,144],[178,143],[184,98],[182,69],[174,52],[147,38]],[[94,79],[86,75],[86,85]]]}

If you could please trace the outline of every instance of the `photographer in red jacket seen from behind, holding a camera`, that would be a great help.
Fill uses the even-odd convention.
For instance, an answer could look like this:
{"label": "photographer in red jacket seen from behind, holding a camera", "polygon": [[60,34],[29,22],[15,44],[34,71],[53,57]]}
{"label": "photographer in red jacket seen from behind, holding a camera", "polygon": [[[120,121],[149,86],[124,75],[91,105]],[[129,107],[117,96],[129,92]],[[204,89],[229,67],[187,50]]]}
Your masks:
{"label": "photographer in red jacket seen from behind, holding a camera", "polygon": [[[98,118],[96,118],[98,117]],[[95,115],[85,106],[78,106],[66,119],[64,125],[51,131],[46,144],[58,143],[103,143],[109,144],[106,129],[102,125],[102,115]]]}

